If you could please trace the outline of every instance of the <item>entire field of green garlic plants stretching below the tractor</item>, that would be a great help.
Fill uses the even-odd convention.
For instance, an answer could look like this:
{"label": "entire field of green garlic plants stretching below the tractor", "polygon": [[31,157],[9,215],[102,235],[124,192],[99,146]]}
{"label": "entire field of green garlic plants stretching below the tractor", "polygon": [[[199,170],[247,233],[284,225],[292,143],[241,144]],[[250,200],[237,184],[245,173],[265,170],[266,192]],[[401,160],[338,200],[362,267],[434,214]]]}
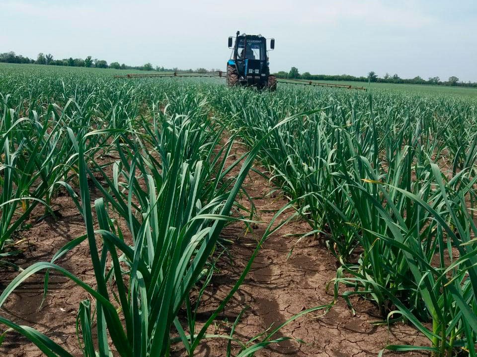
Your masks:
{"label": "entire field of green garlic plants stretching below the tractor", "polygon": [[[241,357],[311,343],[310,335],[279,334],[277,323],[238,335],[240,314],[226,332],[214,330],[268,237],[299,222],[305,231],[284,257],[317,242],[307,251],[328,254],[335,272],[314,287],[328,301],[287,315],[283,328],[339,303],[353,319],[366,301],[373,323],[420,337],[416,345],[380,342],[375,355],[477,356],[476,127],[477,96],[286,84],[267,92],[218,79],[0,66],[0,349],[202,356],[204,344],[220,340],[211,356]],[[252,174],[270,183],[264,196],[280,198],[267,221],[244,184]],[[74,234],[52,243],[45,228],[38,238],[40,225],[61,226],[67,207]],[[244,235],[226,237],[231,225],[244,234],[264,229],[205,313]],[[33,240],[49,253],[33,254]],[[319,269],[319,259],[313,264]],[[38,315],[49,297],[75,292],[68,323],[56,323],[60,310],[39,326],[15,314],[32,281]],[[22,347],[31,343],[40,354]]]}

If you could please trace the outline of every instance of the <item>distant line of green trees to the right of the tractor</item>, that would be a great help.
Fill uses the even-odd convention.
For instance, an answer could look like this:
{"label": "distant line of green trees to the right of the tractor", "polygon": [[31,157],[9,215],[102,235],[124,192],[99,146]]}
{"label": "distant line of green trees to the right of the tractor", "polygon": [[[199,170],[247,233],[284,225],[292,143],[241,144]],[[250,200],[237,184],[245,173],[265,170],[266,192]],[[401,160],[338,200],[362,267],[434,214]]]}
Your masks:
{"label": "distant line of green trees to the right of the tractor", "polygon": [[308,80],[329,80],[329,81],[357,81],[357,82],[376,82],[376,83],[404,83],[404,84],[434,84],[434,85],[451,85],[460,87],[475,87],[477,82],[460,82],[456,76],[450,76],[447,81],[442,81],[439,77],[429,77],[427,80],[420,76],[414,78],[401,78],[397,73],[390,75],[386,73],[383,77],[379,77],[376,72],[368,72],[367,76],[352,76],[349,74],[327,75],[327,74],[311,74],[304,72],[300,74],[297,67],[292,67],[289,72],[279,71],[274,73],[277,78],[284,79],[308,79]]}

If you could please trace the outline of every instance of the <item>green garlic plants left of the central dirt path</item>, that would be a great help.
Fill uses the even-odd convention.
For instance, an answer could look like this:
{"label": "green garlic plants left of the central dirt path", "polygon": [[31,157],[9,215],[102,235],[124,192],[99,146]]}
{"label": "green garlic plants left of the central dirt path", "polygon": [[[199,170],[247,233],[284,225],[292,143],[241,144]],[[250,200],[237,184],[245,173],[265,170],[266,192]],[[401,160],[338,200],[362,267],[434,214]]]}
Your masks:
{"label": "green garlic plants left of the central dirt path", "polygon": [[[28,228],[35,208],[44,207],[44,216],[56,214],[51,207],[60,190],[75,202],[85,234],[59,248],[50,261],[20,267],[1,293],[0,306],[30,277],[44,272],[47,289],[50,274],[59,273],[91,297],[79,303],[83,356],[112,351],[123,357],[168,356],[173,342],[192,356],[250,268],[209,320],[197,326],[197,309],[221,254],[220,233],[238,219],[231,211],[259,145],[229,162],[235,137],[222,141],[225,126],[210,117],[205,96],[190,84],[73,74],[61,80],[45,73],[3,78],[3,263],[15,266],[13,233]],[[94,201],[92,187],[101,196]],[[95,288],[58,264],[83,242],[89,246]],[[185,318],[179,320],[180,311]],[[4,317],[0,323],[47,356],[71,356],[31,327]],[[242,343],[238,355],[272,341]]]}

